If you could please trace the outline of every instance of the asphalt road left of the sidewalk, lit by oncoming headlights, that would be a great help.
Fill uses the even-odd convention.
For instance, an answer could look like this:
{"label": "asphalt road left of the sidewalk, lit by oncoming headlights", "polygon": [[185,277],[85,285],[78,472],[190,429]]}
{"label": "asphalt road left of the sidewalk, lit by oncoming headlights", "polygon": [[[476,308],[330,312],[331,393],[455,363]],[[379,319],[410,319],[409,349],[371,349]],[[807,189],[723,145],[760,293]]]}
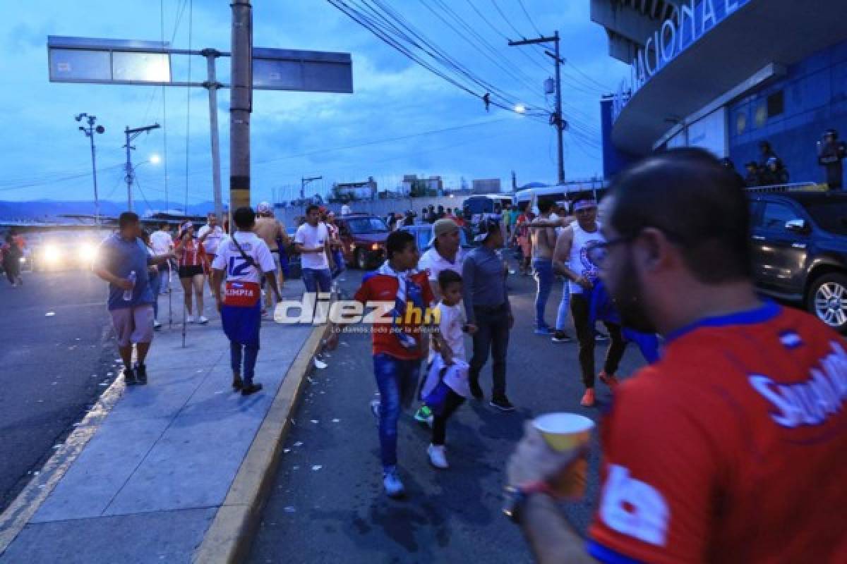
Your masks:
{"label": "asphalt road left of the sidewalk, lit by oncoming headlights", "polygon": [[[91,272],[0,280],[0,511],[53,454],[117,370],[106,286]],[[53,315],[47,315],[52,312]]]}

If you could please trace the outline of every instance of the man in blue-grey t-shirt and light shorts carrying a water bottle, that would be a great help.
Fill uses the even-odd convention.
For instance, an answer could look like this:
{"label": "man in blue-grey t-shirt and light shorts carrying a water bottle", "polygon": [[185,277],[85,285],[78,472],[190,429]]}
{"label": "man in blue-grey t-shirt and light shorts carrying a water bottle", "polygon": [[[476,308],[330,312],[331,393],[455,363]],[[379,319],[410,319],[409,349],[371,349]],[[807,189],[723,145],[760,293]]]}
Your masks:
{"label": "man in blue-grey t-shirt and light shorts carrying a water bottle", "polygon": [[[125,211],[118,218],[118,232],[100,244],[94,273],[109,283],[108,310],[124,361],[127,386],[147,384],[144,359],[153,340],[153,296],[147,266],[174,258],[173,253],[152,255],[139,238],[138,216]],[[132,344],[136,343],[136,364],[132,368]]]}

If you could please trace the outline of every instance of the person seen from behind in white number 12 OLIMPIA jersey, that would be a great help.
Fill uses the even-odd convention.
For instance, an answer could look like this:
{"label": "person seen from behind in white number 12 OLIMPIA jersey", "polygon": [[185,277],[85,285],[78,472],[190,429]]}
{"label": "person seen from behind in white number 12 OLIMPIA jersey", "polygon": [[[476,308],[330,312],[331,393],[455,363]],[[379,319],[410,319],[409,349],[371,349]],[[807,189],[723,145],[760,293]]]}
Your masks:
{"label": "person seen from behind in white number 12 OLIMPIA jersey", "polygon": [[[259,329],[262,326],[262,290],[259,280],[268,281],[269,290],[276,294],[277,303],[282,300],[276,285],[276,263],[268,244],[256,233],[256,214],[248,207],[235,210],[233,216],[236,231],[225,238],[218,247],[218,255],[212,262],[212,289],[218,304],[221,325],[230,339],[230,364],[232,365],[232,387],[249,396],[262,389],[253,382],[256,357],[259,352]],[[224,279],[224,271],[226,276]],[[226,282],[224,298],[221,299],[221,282]],[[243,358],[243,371],[241,362]],[[241,376],[244,376],[243,380]]]}

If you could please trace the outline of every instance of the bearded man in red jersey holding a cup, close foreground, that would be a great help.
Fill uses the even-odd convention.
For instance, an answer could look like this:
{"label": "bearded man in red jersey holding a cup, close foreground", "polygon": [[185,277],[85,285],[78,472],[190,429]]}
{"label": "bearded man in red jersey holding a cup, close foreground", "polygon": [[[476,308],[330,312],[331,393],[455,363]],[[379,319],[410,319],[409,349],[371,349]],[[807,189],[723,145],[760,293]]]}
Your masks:
{"label": "bearded man in red jersey holding a cup, close foreground", "polygon": [[666,349],[603,421],[587,555],[549,486],[580,453],[527,425],[507,508],[538,560],[847,561],[847,344],[757,298],[739,180],[706,151],[667,151],[607,204],[601,277],[623,324]]}

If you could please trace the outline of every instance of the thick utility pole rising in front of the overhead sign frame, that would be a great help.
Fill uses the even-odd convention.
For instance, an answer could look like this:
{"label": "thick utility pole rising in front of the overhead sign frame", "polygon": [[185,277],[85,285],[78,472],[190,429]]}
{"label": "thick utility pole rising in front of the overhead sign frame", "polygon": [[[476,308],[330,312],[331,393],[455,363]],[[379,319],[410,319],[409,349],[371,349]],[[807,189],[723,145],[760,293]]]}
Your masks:
{"label": "thick utility pole rising in front of the overhead sign frame", "polygon": [[250,205],[253,14],[250,0],[232,0],[230,213]]}

